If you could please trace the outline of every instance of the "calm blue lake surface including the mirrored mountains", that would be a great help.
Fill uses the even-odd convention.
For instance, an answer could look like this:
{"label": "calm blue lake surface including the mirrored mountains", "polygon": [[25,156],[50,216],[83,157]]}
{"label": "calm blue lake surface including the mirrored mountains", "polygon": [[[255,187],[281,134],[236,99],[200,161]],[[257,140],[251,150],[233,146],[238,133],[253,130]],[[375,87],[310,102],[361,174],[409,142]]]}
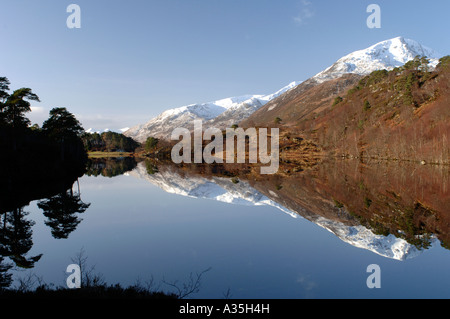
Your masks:
{"label": "calm blue lake surface including the mirrored mountains", "polygon": [[[385,165],[338,164],[316,168],[314,176],[305,170],[276,181],[236,181],[144,162],[105,174],[105,165],[96,163],[97,173],[74,184],[90,206],[76,214],[67,238],[52,234],[42,201],[23,208],[35,222],[26,255],[42,257],[31,269],[15,267],[15,279],[32,273],[65,285],[67,266],[84,250],[109,284],[153,278],[173,291],[163,281],[181,286],[209,269],[190,298],[450,297],[450,250],[443,247],[450,233],[448,168],[407,166],[394,176]],[[410,207],[405,216],[423,215],[414,225],[425,248],[403,239],[405,225],[414,225],[397,217]],[[358,209],[364,219],[354,217]],[[360,225],[368,220],[389,234]],[[378,289],[366,283],[372,264],[381,269]]]}

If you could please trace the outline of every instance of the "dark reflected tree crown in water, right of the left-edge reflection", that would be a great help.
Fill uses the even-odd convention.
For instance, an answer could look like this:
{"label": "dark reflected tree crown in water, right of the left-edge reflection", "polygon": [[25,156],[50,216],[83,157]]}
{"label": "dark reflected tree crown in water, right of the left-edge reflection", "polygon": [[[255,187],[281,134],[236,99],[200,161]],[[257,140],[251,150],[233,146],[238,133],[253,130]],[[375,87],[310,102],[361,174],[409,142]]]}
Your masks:
{"label": "dark reflected tree crown in water, right of the left-edge reflection", "polygon": [[68,238],[81,222],[77,214],[84,213],[90,205],[81,200],[79,190],[78,194],[74,194],[72,188],[38,203],[48,218],[45,224],[51,228],[56,239]]}

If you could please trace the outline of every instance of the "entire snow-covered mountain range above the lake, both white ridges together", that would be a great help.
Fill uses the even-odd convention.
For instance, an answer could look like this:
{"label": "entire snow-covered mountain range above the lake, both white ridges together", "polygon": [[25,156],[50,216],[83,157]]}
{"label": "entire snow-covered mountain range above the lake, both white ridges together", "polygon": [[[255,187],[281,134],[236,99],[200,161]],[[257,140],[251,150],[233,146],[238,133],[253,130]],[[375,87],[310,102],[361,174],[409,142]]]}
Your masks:
{"label": "entire snow-covered mountain range above the lake, both white ridges together", "polygon": [[[303,83],[305,86],[315,85],[348,73],[368,75],[376,70],[391,70],[404,65],[416,56],[427,56],[431,66],[437,65],[440,57],[432,49],[424,47],[414,40],[397,37],[350,53]],[[171,132],[177,127],[192,130],[193,121],[197,119],[206,122],[204,123],[205,127],[220,129],[230,127],[248,118],[256,110],[277,97],[284,96],[287,91],[301,83],[292,82],[269,95],[246,95],[170,109],[145,124],[127,130],[124,134],[139,142],[145,141],[149,136],[170,139]]]}

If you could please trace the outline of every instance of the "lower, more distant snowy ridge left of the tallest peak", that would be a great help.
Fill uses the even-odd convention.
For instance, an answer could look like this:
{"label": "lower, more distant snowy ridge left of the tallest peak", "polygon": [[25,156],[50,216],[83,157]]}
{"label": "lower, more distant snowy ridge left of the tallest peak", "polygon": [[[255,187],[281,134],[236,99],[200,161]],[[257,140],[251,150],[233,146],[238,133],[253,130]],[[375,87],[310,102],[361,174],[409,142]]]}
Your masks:
{"label": "lower, more distant snowy ridge left of the tallest peak", "polygon": [[193,129],[194,120],[202,120],[205,125],[214,125],[211,127],[220,129],[230,127],[299,83],[292,82],[273,94],[230,97],[170,109],[145,124],[132,127],[124,134],[138,142],[144,142],[149,136],[170,139],[170,134],[177,127]]}

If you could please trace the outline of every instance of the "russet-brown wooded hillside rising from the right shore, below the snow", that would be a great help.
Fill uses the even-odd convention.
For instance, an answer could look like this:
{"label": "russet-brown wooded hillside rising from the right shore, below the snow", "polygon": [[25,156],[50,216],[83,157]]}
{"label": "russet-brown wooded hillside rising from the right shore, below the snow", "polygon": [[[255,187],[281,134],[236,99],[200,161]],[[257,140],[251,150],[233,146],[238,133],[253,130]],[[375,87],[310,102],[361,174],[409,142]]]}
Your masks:
{"label": "russet-brown wooded hillside rising from the right shore, below the snow", "polygon": [[449,73],[448,57],[432,72],[416,59],[391,72],[298,86],[240,126],[280,126],[331,156],[450,164]]}

